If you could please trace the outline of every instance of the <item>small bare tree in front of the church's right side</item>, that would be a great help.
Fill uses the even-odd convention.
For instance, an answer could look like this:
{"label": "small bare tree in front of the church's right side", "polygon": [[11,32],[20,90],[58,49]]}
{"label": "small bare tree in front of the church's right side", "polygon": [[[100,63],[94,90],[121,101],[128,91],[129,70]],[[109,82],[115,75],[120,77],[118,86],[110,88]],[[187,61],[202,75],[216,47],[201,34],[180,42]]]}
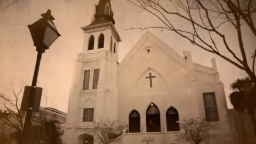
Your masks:
{"label": "small bare tree in front of the church's right side", "polygon": [[205,119],[185,118],[180,125],[181,131],[177,134],[177,140],[185,140],[193,144],[210,143],[217,137],[212,130],[219,129],[217,123],[208,123]]}

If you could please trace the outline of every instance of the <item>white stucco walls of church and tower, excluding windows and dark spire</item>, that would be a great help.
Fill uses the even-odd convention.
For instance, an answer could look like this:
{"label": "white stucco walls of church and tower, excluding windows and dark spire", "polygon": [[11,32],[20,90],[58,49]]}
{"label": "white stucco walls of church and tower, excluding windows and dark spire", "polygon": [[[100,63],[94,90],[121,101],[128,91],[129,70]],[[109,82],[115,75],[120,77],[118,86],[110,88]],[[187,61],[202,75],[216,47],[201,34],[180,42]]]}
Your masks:
{"label": "white stucco walls of church and tower, excluding windows and dark spire", "polygon": [[[190,52],[183,52],[181,56],[146,32],[117,65],[117,53],[110,52],[113,31],[96,31],[94,47],[97,47],[95,44],[98,44],[97,35],[100,33],[106,34],[106,43],[104,49],[87,51],[88,38],[94,33],[85,34],[83,53],[78,54],[76,78],[69,98],[65,133],[68,144],[82,142],[83,129],[92,127],[91,123],[82,122],[83,108],[95,108],[94,121],[111,117],[127,124],[131,111],[137,110],[141,118],[141,133],[125,133],[118,138],[119,143],[143,143],[143,139],[153,139],[151,143],[172,142],[174,132],[166,131],[166,111],[170,107],[177,109],[180,121],[185,117],[204,118],[203,92],[215,92],[221,127],[218,133],[222,133],[223,137],[218,142],[226,142],[227,137],[223,135],[229,132],[227,104],[214,59],[212,68],[198,65],[193,62]],[[83,71],[91,70],[92,83],[94,68],[100,68],[98,89],[92,90],[90,85],[89,90],[82,90]],[[149,79],[146,78],[149,73],[155,76],[152,87],[149,87]],[[146,133],[146,110],[151,102],[160,111],[161,132]]]}

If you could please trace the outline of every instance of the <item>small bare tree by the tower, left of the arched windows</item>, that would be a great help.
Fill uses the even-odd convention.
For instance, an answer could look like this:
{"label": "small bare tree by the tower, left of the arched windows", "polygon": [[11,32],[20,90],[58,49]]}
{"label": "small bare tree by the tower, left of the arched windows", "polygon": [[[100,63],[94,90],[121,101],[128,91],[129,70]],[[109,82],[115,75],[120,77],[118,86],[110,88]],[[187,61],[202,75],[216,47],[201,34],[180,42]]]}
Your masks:
{"label": "small bare tree by the tower, left of the arched windows", "polygon": [[110,144],[116,141],[119,135],[122,135],[126,124],[119,120],[110,118],[101,119],[100,122],[93,122],[92,129],[84,129],[85,132],[94,135],[94,141],[102,144]]}

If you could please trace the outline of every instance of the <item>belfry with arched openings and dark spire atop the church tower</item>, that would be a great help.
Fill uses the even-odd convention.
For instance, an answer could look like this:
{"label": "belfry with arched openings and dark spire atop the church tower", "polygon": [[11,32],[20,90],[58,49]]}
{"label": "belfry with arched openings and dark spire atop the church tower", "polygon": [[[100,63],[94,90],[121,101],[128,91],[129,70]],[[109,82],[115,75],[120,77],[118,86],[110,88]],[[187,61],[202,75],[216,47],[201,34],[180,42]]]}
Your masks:
{"label": "belfry with arched openings and dark spire atop the church tower", "polygon": [[99,0],[90,25],[81,28],[84,30],[83,54],[110,51],[118,56],[117,47],[121,38],[114,26],[113,16],[110,0]]}

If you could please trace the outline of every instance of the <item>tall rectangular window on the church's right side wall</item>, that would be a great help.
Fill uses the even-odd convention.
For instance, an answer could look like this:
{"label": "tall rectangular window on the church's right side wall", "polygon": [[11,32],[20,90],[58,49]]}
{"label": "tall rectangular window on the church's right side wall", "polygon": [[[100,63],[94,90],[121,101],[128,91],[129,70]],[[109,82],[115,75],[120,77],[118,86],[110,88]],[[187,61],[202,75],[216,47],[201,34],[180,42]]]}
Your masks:
{"label": "tall rectangular window on the church's right side wall", "polygon": [[204,110],[207,122],[219,121],[219,113],[217,108],[217,102],[215,98],[215,93],[203,93],[204,99]]}

